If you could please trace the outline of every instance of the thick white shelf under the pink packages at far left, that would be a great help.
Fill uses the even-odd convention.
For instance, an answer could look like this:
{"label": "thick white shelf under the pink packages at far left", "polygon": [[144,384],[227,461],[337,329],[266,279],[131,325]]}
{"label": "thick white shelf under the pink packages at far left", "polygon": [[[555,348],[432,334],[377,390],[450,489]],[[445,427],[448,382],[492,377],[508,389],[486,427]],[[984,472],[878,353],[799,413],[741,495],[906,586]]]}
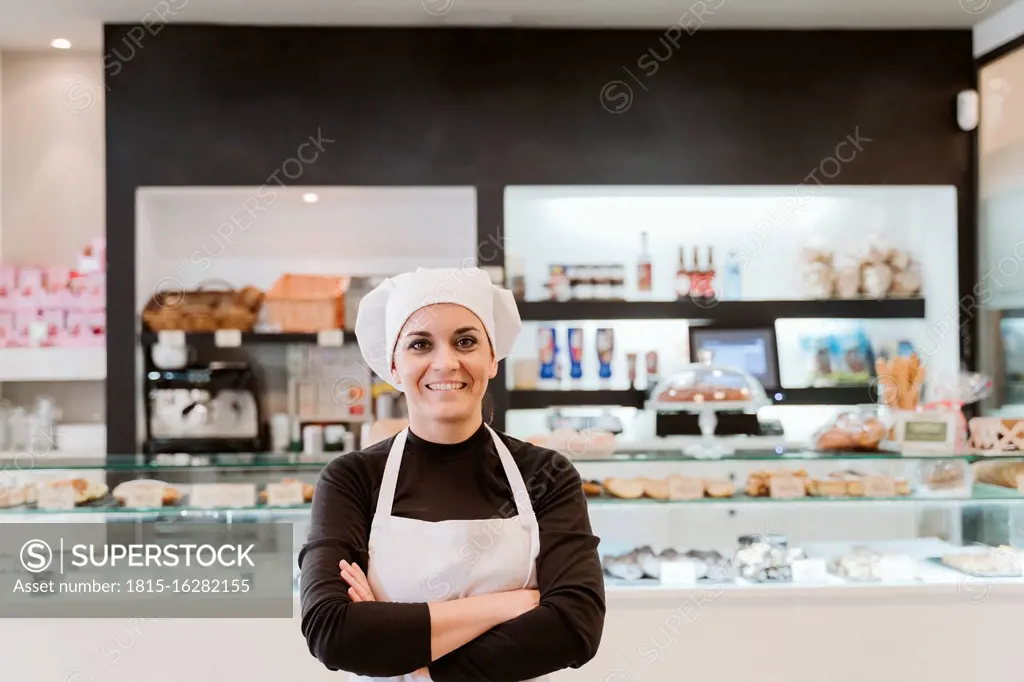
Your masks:
{"label": "thick white shelf under the pink packages at far left", "polygon": [[0,381],[103,381],[106,346],[0,348]]}

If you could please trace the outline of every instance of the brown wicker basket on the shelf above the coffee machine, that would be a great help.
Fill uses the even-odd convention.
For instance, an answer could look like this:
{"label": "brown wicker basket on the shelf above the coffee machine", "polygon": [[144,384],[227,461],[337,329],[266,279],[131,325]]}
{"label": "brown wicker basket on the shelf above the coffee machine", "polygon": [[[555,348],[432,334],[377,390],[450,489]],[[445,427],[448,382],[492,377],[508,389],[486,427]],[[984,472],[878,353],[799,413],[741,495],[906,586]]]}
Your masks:
{"label": "brown wicker basket on the shelf above the coffee machine", "polygon": [[251,331],[263,303],[255,287],[236,291],[228,285],[211,290],[204,283],[196,291],[158,291],[142,309],[142,321],[155,332],[215,332],[221,329]]}

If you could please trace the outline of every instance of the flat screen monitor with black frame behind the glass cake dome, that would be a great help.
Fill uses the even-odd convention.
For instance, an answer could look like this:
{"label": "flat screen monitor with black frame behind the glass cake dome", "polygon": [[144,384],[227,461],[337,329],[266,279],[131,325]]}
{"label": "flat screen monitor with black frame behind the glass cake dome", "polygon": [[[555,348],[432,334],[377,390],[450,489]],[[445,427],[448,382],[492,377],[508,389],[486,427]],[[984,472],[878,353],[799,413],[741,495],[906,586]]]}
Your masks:
{"label": "flat screen monitor with black frame behind the glass cake dome", "polygon": [[779,388],[778,351],[773,328],[691,327],[690,359],[696,363],[701,350],[714,353],[715,365],[750,373],[761,382],[765,390]]}

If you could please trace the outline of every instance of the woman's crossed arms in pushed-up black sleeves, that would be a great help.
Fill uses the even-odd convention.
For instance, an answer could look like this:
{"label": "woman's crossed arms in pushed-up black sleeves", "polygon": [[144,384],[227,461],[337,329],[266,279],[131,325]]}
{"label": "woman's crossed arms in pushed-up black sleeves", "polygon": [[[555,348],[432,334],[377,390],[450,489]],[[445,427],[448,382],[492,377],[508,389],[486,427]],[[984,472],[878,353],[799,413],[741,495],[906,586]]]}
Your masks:
{"label": "woman's crossed arms in pushed-up black sleeves", "polygon": [[[371,496],[345,459],[325,469],[317,484],[310,542],[299,559],[302,630],[325,666],[374,677],[426,668],[436,682],[518,682],[593,657],[604,620],[603,579],[571,465],[555,467],[531,495],[541,526],[539,592],[407,604],[376,601],[366,582]],[[348,522],[339,528],[339,519]]]}

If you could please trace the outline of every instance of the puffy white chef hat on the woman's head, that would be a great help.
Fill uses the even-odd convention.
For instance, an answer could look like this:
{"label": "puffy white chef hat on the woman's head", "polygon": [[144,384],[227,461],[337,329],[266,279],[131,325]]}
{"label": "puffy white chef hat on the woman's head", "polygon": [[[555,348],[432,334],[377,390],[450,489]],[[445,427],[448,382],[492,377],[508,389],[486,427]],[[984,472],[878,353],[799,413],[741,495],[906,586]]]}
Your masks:
{"label": "puffy white chef hat on the woman's head", "polygon": [[512,350],[522,328],[512,292],[496,287],[478,268],[420,267],[388,278],[359,301],[355,338],[370,369],[398,390],[391,379],[398,332],[414,312],[438,303],[455,303],[476,314],[499,360]]}

